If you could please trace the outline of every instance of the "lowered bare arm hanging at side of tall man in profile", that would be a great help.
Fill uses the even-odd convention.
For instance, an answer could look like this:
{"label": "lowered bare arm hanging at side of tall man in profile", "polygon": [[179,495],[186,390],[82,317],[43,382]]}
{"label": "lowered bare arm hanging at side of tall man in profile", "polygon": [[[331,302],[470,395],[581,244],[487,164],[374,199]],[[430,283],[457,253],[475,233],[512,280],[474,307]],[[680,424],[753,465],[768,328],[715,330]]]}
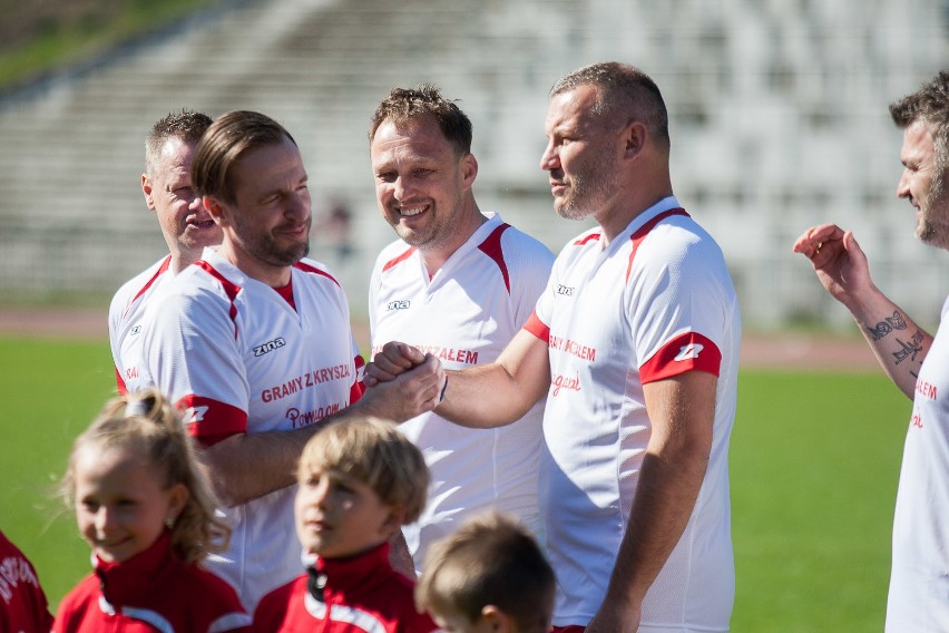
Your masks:
{"label": "lowered bare arm hanging at side of tall man in profile", "polygon": [[652,435],[606,597],[587,633],[637,631],[646,591],[682,537],[705,477],[716,383],[689,371],[643,386]]}

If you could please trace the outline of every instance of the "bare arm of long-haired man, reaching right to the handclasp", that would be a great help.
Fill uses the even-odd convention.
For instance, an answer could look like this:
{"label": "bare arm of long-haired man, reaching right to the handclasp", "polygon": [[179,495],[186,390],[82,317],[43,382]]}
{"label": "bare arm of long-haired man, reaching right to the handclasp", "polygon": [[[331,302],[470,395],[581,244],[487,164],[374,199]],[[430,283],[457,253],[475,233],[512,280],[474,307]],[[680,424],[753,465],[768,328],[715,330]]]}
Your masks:
{"label": "bare arm of long-haired man, reaching right to the handclasp", "polygon": [[369,390],[358,402],[320,423],[227,437],[203,451],[215,491],[233,506],[290,486],[296,481],[296,460],[304,445],[320,428],[364,416],[405,421],[434,407],[442,382],[441,364],[428,357],[411,371]]}

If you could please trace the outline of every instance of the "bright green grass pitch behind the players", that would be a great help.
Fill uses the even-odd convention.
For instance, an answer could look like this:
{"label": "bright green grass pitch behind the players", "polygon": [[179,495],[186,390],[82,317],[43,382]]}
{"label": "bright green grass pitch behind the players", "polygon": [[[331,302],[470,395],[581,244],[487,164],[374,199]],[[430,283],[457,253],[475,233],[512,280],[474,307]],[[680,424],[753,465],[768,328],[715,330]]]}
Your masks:
{"label": "bright green grass pitch behind the players", "polygon": [[[55,497],[72,437],[114,393],[108,344],[0,338],[2,528],[50,603],[89,569]],[[910,403],[880,374],[742,373],[732,439],[732,630],[879,631]]]}

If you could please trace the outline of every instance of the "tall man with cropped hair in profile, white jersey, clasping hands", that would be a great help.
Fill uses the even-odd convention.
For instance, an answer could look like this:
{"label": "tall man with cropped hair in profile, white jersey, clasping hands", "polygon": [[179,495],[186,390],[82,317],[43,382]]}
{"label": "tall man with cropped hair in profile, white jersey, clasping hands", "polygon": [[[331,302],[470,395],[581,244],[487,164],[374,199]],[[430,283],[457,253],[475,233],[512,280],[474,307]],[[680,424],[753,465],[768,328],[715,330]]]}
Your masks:
{"label": "tall man with cropped hair in profile, white jersey, clasping hands", "polygon": [[[673,196],[653,80],[597,64],[550,96],[540,165],[554,206],[599,226],[564,247],[497,362],[448,372],[436,410],[492,427],[546,395],[540,500],[558,631],[727,631],[734,288],[718,246]],[[388,344],[370,382],[421,359]]]}

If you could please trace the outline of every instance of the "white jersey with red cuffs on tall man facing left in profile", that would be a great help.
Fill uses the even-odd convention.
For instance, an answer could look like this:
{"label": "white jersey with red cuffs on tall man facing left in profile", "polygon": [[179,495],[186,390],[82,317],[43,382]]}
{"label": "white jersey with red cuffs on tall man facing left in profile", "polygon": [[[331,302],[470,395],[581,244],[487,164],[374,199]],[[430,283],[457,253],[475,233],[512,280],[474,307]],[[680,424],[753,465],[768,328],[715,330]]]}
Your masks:
{"label": "white jersey with red cuffs on tall man facing left in profile", "polygon": [[678,206],[661,201],[606,246],[599,228],[568,243],[526,325],[550,357],[540,476],[555,625],[586,625],[603,602],[650,435],[643,383],[697,370],[718,377],[711,458],[685,533],[643,602],[642,626],[728,630],[741,318],[721,250]]}

